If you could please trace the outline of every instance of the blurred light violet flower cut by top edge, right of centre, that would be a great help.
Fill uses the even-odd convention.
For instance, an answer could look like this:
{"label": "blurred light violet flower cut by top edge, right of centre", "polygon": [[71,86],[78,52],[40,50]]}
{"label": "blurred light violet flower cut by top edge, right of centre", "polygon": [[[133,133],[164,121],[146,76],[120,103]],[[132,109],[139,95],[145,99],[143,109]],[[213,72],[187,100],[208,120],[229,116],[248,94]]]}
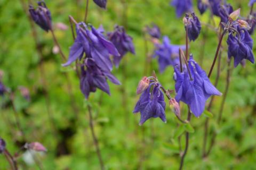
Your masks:
{"label": "blurred light violet flower cut by top edge, right of centre", "polygon": [[191,0],[173,0],[171,5],[176,8],[176,16],[180,18],[184,13],[192,11]]}

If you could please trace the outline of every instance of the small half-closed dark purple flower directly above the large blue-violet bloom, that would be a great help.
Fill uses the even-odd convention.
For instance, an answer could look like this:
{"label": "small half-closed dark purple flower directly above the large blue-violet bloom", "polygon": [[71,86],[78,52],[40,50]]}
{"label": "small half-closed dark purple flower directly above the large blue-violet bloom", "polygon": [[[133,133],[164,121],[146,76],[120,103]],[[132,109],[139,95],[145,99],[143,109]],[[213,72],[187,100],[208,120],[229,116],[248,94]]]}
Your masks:
{"label": "small half-closed dark purple flower directly above the large blue-violet bloom", "polygon": [[195,13],[193,12],[191,13],[191,15],[192,18],[189,17],[188,14],[186,14],[185,19],[183,19],[183,22],[185,22],[185,29],[188,30],[189,40],[195,41],[201,32],[202,26]]}

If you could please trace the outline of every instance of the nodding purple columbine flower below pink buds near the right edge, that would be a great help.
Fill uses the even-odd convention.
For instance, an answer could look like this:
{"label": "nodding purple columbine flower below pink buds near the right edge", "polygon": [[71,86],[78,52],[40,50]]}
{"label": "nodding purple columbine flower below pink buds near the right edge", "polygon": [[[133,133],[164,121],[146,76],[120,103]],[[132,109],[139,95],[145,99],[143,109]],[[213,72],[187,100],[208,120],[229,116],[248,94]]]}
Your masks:
{"label": "nodding purple columbine flower below pink buds near the right edge", "polygon": [[233,35],[229,33],[228,35],[228,58],[234,57],[234,66],[236,67],[243,59],[249,60],[254,63],[254,56],[252,53],[253,40],[249,35],[249,32],[245,29],[237,27],[240,35]]}

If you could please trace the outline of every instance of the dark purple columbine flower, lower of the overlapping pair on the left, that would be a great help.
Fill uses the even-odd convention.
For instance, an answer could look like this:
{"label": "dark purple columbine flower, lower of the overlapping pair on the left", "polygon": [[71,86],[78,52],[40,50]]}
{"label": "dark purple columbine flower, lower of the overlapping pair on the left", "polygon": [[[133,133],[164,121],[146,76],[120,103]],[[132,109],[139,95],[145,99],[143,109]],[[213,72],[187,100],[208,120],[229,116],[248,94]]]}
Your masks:
{"label": "dark purple columbine flower, lower of the overlapping pair on the left", "polygon": [[121,84],[109,70],[99,67],[93,58],[87,57],[84,65],[86,68],[85,66],[81,67],[80,89],[85,98],[88,98],[90,92],[95,92],[97,88],[110,95],[107,78],[114,84]]}

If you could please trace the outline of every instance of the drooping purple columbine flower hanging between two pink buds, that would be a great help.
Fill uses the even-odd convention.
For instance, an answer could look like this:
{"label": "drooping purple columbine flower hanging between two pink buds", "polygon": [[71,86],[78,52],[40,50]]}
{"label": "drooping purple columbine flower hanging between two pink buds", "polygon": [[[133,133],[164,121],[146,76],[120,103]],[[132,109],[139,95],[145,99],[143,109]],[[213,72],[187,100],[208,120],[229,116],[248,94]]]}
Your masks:
{"label": "drooping purple columbine flower hanging between two pink buds", "polygon": [[[152,90],[151,86],[153,86]],[[140,125],[151,117],[160,117],[161,120],[166,123],[164,94],[160,88],[161,84],[151,83],[149,87],[142,92],[133,111],[133,113],[140,112]]]}

